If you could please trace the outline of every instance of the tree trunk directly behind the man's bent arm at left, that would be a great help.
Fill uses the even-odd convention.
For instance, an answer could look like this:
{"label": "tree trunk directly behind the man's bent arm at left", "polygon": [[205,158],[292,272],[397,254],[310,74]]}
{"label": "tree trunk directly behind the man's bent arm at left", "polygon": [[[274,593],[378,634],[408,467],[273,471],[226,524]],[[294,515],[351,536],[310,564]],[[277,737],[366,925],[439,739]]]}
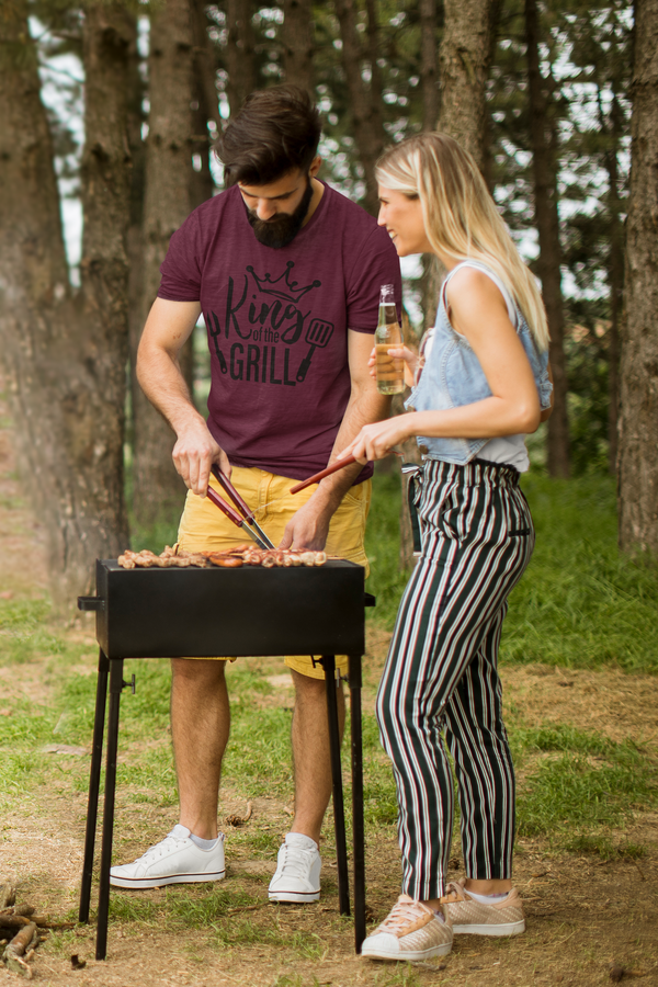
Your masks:
{"label": "tree trunk directly behind the man's bent arm at left", "polygon": [[[193,46],[189,0],[168,0],[151,21],[149,52],[149,132],[144,206],[144,293],[138,333],[160,284],[160,264],[171,235],[191,212],[195,185],[192,168]],[[138,344],[132,339],[133,362]],[[191,345],[181,368],[192,383]],[[163,418],[133,386],[133,497],[139,525],[170,521],[180,511],[184,484],[174,469],[175,438]]]}

